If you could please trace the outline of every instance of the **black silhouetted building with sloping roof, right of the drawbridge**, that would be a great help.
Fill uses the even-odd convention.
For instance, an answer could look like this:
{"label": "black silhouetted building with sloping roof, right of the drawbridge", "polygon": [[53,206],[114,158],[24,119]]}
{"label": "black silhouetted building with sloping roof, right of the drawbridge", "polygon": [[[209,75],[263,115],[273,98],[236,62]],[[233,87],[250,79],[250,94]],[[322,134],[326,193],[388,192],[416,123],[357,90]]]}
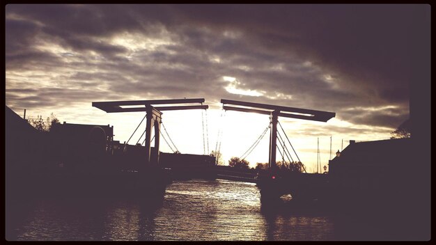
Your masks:
{"label": "black silhouetted building with sloping roof, right of the drawbridge", "polygon": [[417,165],[412,164],[411,148],[411,139],[350,141],[339,156],[329,161],[329,177],[339,185],[336,188],[349,191],[395,191],[410,171],[419,171],[413,169]]}

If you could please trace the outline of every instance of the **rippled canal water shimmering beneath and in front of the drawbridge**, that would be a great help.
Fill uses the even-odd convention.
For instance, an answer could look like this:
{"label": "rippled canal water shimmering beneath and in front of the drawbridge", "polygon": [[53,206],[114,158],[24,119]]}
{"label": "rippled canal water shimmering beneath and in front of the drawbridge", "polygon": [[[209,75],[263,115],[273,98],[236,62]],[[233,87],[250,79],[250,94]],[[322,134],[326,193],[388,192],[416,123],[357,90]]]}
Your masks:
{"label": "rippled canal water shimmering beneath and in front of the drawbridge", "polygon": [[11,230],[10,240],[336,239],[327,216],[262,207],[255,184],[228,180],[173,182],[154,207],[135,200],[38,200]]}

